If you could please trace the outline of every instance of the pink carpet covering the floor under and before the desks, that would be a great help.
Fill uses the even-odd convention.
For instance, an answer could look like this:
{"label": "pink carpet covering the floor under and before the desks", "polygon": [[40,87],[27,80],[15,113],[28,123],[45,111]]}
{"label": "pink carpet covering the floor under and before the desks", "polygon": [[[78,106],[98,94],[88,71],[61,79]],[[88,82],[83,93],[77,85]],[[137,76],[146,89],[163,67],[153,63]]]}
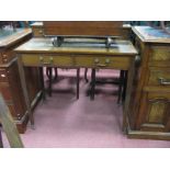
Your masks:
{"label": "pink carpet covering the floor under and before the desks", "polygon": [[[98,77],[115,77],[118,71],[100,70]],[[80,99],[76,100],[76,70],[59,70],[53,97],[35,109],[35,131],[21,135],[25,147],[170,147],[170,141],[128,139],[122,133],[122,106],[116,104],[117,87],[98,84],[95,100],[87,97],[89,83],[81,69]],[[90,77],[90,70],[88,72]],[[4,147],[9,147],[3,134]]]}

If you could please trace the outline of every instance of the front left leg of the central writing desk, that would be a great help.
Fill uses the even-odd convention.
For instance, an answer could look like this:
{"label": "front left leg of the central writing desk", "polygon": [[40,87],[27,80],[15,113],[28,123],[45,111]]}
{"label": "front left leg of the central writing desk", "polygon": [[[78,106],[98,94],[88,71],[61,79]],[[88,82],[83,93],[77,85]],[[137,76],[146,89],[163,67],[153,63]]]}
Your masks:
{"label": "front left leg of the central writing desk", "polygon": [[22,64],[22,58],[20,55],[18,55],[18,66],[19,66],[21,86],[22,86],[22,90],[23,90],[24,99],[25,99],[25,103],[26,103],[26,109],[29,112],[29,118],[30,118],[32,128],[34,128],[34,117],[33,117],[33,113],[32,113],[32,109],[31,109],[31,101],[30,101],[29,92],[27,92],[27,88],[26,88],[24,66]]}

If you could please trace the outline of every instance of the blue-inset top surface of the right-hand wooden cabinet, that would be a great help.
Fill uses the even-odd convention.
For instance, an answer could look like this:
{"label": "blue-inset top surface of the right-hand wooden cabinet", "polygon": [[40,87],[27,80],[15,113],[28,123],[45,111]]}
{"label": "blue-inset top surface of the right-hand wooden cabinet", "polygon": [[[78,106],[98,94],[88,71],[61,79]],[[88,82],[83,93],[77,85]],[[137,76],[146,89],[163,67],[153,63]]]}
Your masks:
{"label": "blue-inset top surface of the right-hand wooden cabinet", "polygon": [[134,26],[133,31],[145,43],[170,43],[170,34],[151,26]]}

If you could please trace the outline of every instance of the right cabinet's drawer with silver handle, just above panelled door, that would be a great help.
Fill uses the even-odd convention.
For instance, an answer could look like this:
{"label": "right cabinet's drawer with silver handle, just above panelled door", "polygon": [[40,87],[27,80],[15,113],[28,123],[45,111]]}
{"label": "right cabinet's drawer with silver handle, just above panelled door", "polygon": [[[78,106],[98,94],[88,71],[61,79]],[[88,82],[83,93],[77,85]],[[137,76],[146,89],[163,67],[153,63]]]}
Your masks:
{"label": "right cabinet's drawer with silver handle, just above panelled door", "polygon": [[170,88],[170,69],[150,67],[148,72],[147,84]]}

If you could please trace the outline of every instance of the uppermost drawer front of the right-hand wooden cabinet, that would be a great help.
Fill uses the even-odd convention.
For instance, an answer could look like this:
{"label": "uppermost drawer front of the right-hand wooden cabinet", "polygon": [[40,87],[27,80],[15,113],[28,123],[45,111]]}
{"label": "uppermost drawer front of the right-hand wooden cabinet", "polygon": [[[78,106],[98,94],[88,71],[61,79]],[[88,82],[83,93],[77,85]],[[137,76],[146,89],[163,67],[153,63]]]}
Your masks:
{"label": "uppermost drawer front of the right-hand wooden cabinet", "polygon": [[170,48],[166,46],[154,46],[149,57],[150,66],[169,66]]}

